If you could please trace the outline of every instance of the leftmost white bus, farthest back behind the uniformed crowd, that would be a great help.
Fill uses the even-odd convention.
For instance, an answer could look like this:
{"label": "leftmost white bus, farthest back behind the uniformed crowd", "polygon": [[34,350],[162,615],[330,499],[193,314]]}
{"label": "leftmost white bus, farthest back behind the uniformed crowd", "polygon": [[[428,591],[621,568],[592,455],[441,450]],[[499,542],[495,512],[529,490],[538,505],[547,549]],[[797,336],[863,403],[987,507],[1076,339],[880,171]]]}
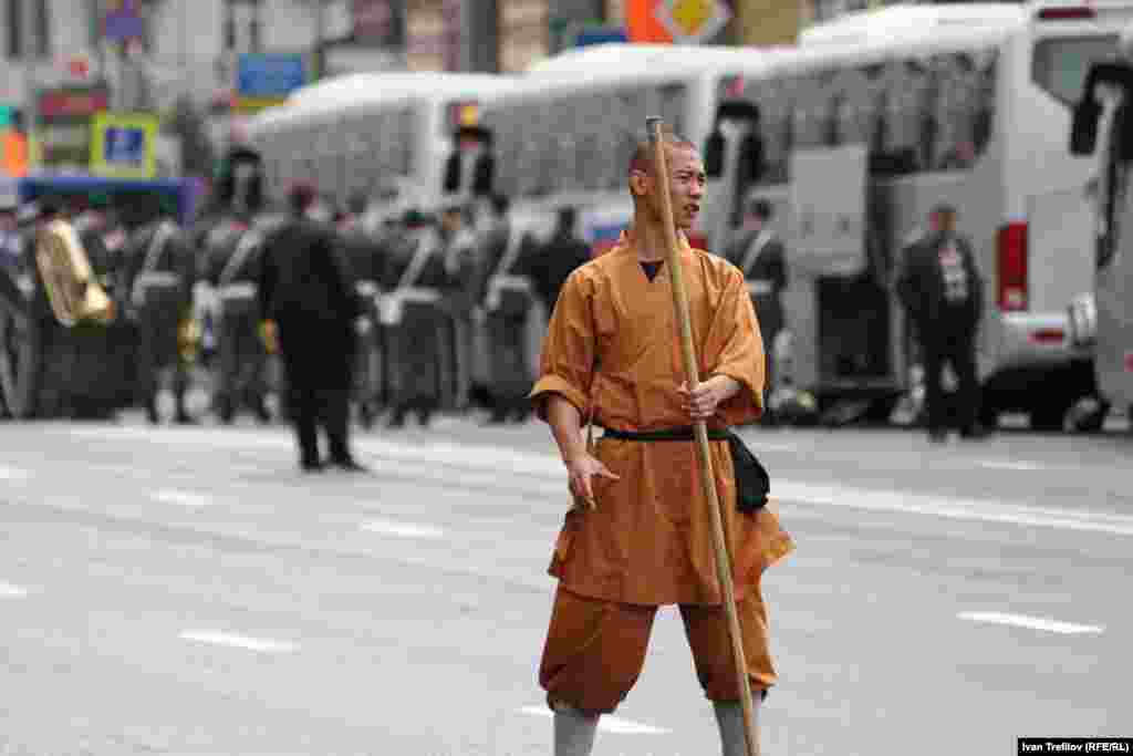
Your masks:
{"label": "leftmost white bus, farthest back behind the uniformed crowd", "polygon": [[[477,74],[355,74],[298,90],[248,128],[264,161],[269,201],[278,204],[304,179],[324,198],[342,203],[363,193],[387,201],[389,212],[466,202],[475,159],[467,160],[471,153],[454,134],[511,83]],[[459,181],[446,187],[454,154]]]}

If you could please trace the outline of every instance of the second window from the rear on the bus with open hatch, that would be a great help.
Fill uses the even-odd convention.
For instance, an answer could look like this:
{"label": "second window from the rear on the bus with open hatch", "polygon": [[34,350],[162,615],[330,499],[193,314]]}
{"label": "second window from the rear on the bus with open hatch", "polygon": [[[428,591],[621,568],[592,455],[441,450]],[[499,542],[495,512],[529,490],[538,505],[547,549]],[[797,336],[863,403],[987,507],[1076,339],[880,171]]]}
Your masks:
{"label": "second window from the rear on the bus with open hatch", "polygon": [[929,71],[915,61],[884,66],[878,82],[883,108],[876,172],[900,176],[925,170],[931,141],[931,85]]}

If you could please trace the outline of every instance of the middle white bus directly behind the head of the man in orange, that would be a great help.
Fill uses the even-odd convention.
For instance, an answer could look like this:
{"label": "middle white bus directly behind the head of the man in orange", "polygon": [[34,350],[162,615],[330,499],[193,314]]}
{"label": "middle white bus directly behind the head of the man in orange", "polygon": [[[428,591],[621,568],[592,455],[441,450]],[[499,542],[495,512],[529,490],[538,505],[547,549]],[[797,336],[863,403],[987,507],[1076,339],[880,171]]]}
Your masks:
{"label": "middle white bus directly behind the head of the man in orange", "polygon": [[[605,44],[531,66],[487,104],[480,122],[494,135],[496,188],[520,224],[550,230],[554,212],[578,210],[579,232],[600,253],[632,218],[627,169],[645,121],[657,114],[702,144],[712,129],[716,82],[770,53],[738,48]],[[716,210],[692,235],[705,244]],[[721,198],[726,199],[726,197]]]}

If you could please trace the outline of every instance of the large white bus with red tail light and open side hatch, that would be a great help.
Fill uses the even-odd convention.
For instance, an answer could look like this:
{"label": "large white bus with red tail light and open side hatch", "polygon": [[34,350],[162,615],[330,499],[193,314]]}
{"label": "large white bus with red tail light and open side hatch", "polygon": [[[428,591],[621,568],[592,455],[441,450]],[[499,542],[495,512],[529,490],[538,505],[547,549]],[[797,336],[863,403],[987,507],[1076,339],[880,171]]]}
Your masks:
{"label": "large white bus with red tail light and open side hatch", "polygon": [[1016,410],[1063,427],[1092,382],[1067,306],[1093,275],[1092,165],[1065,139],[1083,74],[1130,18],[1133,5],[1105,0],[893,6],[815,26],[764,75],[721,82],[722,105],[759,109],[765,170],[730,188],[776,207],[801,388],[888,416],[911,372],[894,265],[946,202],[987,283],[983,421]]}

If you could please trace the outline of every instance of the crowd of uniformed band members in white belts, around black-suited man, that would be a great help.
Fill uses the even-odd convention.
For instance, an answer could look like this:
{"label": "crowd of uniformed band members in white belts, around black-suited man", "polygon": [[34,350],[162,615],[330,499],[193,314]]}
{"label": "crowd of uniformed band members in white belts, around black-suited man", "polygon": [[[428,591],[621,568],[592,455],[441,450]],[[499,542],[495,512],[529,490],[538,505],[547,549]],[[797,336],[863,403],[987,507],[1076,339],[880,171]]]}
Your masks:
{"label": "crowd of uniformed band members in white belts, around black-suited man", "polygon": [[[296,193],[317,194],[310,186],[292,187],[291,197]],[[308,204],[303,214],[332,235],[335,255],[346,261],[357,308],[350,405],[364,425],[383,415],[392,427],[410,419],[427,425],[438,410],[477,408],[491,423],[528,416],[538,334],[566,275],[590,256],[573,210],[560,211],[547,236],[513,229],[502,196],[434,213],[375,210],[363,195],[339,209]],[[286,215],[229,206],[182,226],[173,204],[160,197],[116,205],[100,196],[49,196],[10,210],[18,222],[5,237],[9,280],[31,280],[43,331],[73,339],[75,355],[86,356],[69,379],[74,390],[61,392],[74,401],[61,401],[54,414],[108,417],[135,405],[157,424],[170,414],[159,402],[163,385],[173,394],[169,419],[176,423],[203,419],[187,398],[193,388],[208,393],[206,414],[222,424],[244,413],[269,423],[291,410],[276,323],[257,297],[266,246],[288,244],[272,236]],[[82,343],[74,329],[50,322],[35,263],[35,231],[56,218],[71,221],[117,305],[113,326],[101,334],[88,330]],[[92,399],[90,382],[97,376],[83,371],[123,362],[113,352],[126,347],[108,335],[116,329],[129,329],[133,358],[103,380],[126,385]]]}

